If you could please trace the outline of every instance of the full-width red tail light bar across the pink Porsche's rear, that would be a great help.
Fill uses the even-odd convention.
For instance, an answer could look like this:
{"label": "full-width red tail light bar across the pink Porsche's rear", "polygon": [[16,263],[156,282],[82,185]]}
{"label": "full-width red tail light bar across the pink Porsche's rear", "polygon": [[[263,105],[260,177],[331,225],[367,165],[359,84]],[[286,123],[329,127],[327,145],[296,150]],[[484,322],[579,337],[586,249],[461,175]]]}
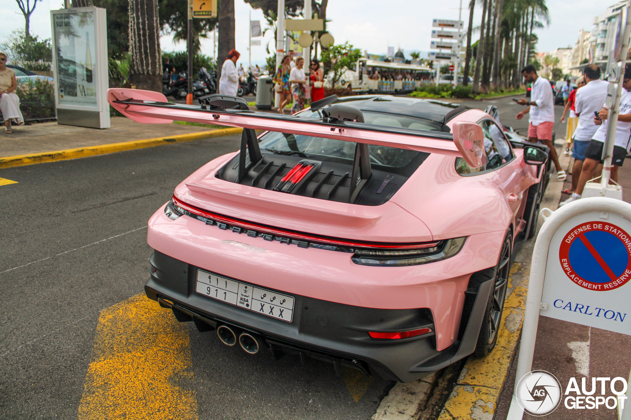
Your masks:
{"label": "full-width red tail light bar across the pink Porsche's rear", "polygon": [[[306,166],[305,168],[308,168]],[[297,170],[297,172],[299,171]],[[364,248],[366,252],[370,252],[371,255],[408,255],[408,254],[418,254],[419,252],[433,252],[433,250],[437,250],[440,242],[416,242],[416,243],[380,243],[380,242],[368,242],[368,241],[355,241],[355,240],[346,240],[346,239],[338,239],[338,238],[330,238],[328,236],[320,236],[313,235],[312,233],[302,233],[292,230],[284,230],[280,228],[274,228],[266,225],[259,225],[257,223],[252,223],[249,221],[243,221],[239,219],[233,219],[227,216],[223,216],[221,214],[216,214],[208,210],[200,209],[199,207],[191,206],[191,204],[187,204],[186,202],[177,199],[177,197],[173,197],[173,203],[175,205],[175,209],[177,207],[182,209],[181,213],[187,211],[193,215],[201,216],[206,219],[211,219],[217,222],[218,226],[222,229],[227,229],[228,226],[231,226],[230,229],[235,231],[239,231],[239,233],[263,233],[263,237],[266,238],[266,235],[269,235],[269,240],[274,240],[273,236],[283,236],[285,238],[291,238],[298,241],[305,241],[307,243],[321,243],[324,245],[333,245],[334,247],[346,247],[346,248]],[[266,238],[267,239],[267,238]],[[374,254],[373,254],[374,253]]]}

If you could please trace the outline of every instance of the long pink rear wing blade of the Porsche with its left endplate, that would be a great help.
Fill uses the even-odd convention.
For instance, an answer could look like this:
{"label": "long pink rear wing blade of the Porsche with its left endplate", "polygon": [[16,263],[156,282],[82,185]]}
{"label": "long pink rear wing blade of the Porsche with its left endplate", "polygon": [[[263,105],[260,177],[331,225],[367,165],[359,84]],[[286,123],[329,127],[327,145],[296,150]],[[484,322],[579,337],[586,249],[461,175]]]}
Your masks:
{"label": "long pink rear wing blade of the Porsche with its left endplate", "polygon": [[[297,117],[295,115],[225,108],[202,109],[194,105],[129,98],[134,93],[142,95],[143,92],[111,88],[108,90],[108,98],[114,108],[137,122],[145,122],[144,120],[147,119],[150,119],[151,122],[155,122],[156,119],[184,120],[203,124],[211,123],[242,127],[244,129],[283,131],[292,134],[319,136],[387,147],[395,146],[403,149],[437,153],[439,155],[462,156],[453,142],[451,133],[385,127],[384,125],[348,121],[342,124],[329,124],[312,117]],[[153,95],[156,95],[156,93],[153,92]],[[120,100],[119,98],[121,97],[124,100]]]}

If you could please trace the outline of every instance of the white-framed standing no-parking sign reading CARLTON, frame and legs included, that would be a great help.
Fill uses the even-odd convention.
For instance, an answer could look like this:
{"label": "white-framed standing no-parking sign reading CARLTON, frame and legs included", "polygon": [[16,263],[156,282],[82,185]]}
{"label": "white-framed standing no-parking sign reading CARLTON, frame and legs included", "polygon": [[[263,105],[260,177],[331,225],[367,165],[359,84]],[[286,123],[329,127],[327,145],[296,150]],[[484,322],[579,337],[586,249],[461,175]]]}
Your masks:
{"label": "white-framed standing no-parking sign reading CARLTON, frame and legs included", "polygon": [[[627,243],[631,236],[631,204],[606,197],[588,197],[570,202],[557,211],[541,209],[541,216],[545,222],[534,243],[517,358],[516,389],[507,420],[522,420],[524,415],[517,399],[517,383],[532,371],[540,315],[631,335],[630,320],[618,322],[614,317],[605,317],[604,309],[596,308],[603,312],[603,317],[598,318],[587,308],[584,312],[577,306],[573,311],[566,310],[570,301],[580,301],[589,302],[592,309],[602,306],[614,316],[617,312],[626,312],[631,298],[631,270],[627,268],[631,264],[631,245]],[[613,254],[615,252],[618,253]],[[603,253],[618,255],[615,272],[606,274],[606,269],[611,271],[608,265],[611,260],[608,259],[609,263],[601,261]],[[577,309],[580,315],[575,313]],[[625,415],[627,413],[631,414],[631,409]]]}

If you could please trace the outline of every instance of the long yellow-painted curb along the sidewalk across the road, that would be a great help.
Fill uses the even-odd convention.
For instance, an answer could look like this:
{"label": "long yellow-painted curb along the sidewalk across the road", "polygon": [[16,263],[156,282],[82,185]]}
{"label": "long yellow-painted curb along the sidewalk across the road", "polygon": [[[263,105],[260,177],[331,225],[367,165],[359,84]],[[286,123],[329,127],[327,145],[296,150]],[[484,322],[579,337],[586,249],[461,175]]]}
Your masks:
{"label": "long yellow-painted curb along the sidewalk across the road", "polygon": [[189,134],[178,134],[177,136],[155,137],[153,139],[124,141],[122,143],[100,144],[98,146],[88,146],[85,148],[56,150],[42,153],[30,153],[27,155],[3,156],[0,157],[0,169],[13,168],[14,166],[33,165],[35,163],[54,162],[58,160],[68,160],[76,158],[86,158],[88,156],[107,155],[119,151],[151,148],[164,144],[184,143],[204,139],[208,137],[221,137],[230,134],[240,133],[243,129],[231,127],[227,129],[193,132]]}

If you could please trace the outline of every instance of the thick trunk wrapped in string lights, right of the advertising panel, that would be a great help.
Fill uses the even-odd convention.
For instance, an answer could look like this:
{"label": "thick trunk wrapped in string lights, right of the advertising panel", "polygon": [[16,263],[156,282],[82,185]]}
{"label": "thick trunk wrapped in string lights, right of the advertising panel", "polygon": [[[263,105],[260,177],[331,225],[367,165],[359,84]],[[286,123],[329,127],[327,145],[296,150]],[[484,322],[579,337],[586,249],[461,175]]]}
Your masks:
{"label": "thick trunk wrapped in string lights, right of the advertising panel", "polygon": [[162,92],[157,0],[129,0],[129,83]]}

